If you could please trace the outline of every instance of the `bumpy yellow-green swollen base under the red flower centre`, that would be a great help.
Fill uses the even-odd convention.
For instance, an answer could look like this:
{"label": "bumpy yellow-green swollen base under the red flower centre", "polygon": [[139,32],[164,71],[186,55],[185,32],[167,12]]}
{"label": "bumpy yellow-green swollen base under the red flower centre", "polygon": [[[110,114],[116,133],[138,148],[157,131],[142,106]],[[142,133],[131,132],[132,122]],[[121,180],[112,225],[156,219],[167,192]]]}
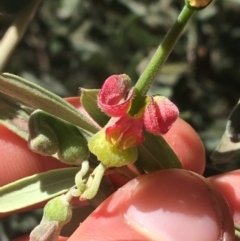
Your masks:
{"label": "bumpy yellow-green swollen base under the red flower centre", "polygon": [[89,150],[107,167],[120,167],[137,160],[137,148],[119,149],[105,138],[105,129],[100,130],[88,142]]}

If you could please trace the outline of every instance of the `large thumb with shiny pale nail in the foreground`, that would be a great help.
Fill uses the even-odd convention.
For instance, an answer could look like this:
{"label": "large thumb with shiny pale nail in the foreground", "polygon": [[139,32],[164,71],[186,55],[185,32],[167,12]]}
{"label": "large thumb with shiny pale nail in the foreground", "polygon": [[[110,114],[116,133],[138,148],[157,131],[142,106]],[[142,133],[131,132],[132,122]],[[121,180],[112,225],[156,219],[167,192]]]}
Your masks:
{"label": "large thumb with shiny pale nail in the foreground", "polygon": [[197,174],[169,169],[128,182],[68,240],[212,241],[223,237],[234,240],[234,225],[220,192]]}

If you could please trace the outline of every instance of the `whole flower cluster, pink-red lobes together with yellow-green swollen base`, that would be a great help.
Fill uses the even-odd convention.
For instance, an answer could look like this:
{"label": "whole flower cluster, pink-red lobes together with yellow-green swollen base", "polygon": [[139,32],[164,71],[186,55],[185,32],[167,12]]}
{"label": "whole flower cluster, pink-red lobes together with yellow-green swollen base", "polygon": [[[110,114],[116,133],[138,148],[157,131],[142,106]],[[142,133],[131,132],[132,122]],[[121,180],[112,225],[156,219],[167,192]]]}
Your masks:
{"label": "whole flower cluster, pink-red lobes together with yellow-green swollen base", "polygon": [[[143,129],[154,134],[165,134],[178,117],[177,107],[163,96],[144,96],[143,104],[135,114],[130,114],[136,97],[131,80],[126,74],[112,75],[103,84],[98,94],[98,106],[112,117],[108,124],[89,141],[89,149],[107,166],[131,156],[137,158],[136,146],[144,141]],[[116,158],[116,155],[119,157]],[[130,154],[129,154],[130,153]],[[114,155],[113,155],[114,154]]]}

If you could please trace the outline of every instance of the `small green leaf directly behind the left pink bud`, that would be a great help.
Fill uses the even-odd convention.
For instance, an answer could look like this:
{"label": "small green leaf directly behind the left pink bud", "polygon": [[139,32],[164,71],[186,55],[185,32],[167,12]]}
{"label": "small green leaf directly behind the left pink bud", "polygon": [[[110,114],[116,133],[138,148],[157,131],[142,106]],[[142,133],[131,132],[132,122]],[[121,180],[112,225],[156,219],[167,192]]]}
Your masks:
{"label": "small green leaf directly behind the left pink bud", "polygon": [[110,118],[97,105],[98,92],[96,89],[81,89],[81,103],[88,114],[103,127]]}

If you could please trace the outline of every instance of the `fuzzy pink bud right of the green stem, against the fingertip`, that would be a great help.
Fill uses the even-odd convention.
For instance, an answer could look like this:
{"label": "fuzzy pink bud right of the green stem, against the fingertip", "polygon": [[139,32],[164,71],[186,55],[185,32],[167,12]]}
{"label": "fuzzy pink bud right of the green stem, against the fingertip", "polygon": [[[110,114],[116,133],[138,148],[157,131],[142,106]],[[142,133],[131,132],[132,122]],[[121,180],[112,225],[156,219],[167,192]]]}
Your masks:
{"label": "fuzzy pink bud right of the green stem, against the fingertip", "polygon": [[148,96],[146,102],[143,116],[146,130],[154,135],[167,133],[179,114],[176,105],[163,96]]}

